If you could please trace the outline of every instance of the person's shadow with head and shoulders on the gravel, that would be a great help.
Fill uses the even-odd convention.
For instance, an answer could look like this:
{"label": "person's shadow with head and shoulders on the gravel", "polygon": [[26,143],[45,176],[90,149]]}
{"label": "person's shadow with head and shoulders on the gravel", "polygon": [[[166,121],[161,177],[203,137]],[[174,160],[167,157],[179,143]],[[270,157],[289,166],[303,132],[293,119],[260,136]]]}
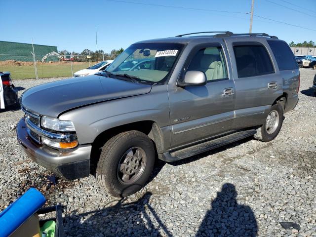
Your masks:
{"label": "person's shadow with head and shoulders on the gravel", "polygon": [[235,186],[224,184],[212,201],[211,209],[205,214],[196,236],[257,236],[258,225],[253,211],[249,206],[238,204],[236,197]]}

